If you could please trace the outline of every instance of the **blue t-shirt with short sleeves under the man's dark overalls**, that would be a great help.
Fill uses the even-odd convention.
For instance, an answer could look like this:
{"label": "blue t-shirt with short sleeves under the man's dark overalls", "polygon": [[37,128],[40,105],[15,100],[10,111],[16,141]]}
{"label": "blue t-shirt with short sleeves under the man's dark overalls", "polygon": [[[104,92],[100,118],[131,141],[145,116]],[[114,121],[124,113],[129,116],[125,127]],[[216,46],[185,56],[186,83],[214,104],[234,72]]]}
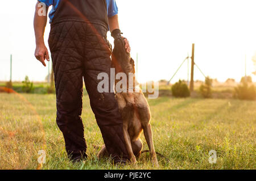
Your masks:
{"label": "blue t-shirt with short sleeves under the man's dark overalls", "polygon": [[[38,1],[46,3],[46,6],[48,7],[51,5],[53,6],[52,10],[49,12],[49,19],[51,23],[52,18],[55,14],[55,11],[57,10],[57,7],[59,6],[59,3],[61,0],[38,0]],[[109,17],[112,17],[118,14],[117,3],[115,3],[115,0],[106,0],[106,5],[107,5],[107,12]]]}

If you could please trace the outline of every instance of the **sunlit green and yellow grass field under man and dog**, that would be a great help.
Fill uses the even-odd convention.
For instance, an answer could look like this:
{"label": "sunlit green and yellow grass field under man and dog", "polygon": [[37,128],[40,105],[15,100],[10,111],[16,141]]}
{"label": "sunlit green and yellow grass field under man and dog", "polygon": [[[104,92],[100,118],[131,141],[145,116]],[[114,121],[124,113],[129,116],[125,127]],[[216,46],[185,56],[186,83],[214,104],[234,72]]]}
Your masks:
{"label": "sunlit green and yellow grass field under man and dog", "polygon": [[[174,99],[148,101],[155,149],[165,155],[159,169],[256,169],[256,102],[231,99]],[[155,169],[143,154],[136,166],[113,166],[98,160],[100,129],[84,96],[82,119],[89,158],[73,164],[55,122],[55,95],[0,94],[0,169],[37,169],[38,150],[46,150],[41,169]],[[148,149],[142,136],[144,150]],[[208,152],[217,151],[217,163]]]}

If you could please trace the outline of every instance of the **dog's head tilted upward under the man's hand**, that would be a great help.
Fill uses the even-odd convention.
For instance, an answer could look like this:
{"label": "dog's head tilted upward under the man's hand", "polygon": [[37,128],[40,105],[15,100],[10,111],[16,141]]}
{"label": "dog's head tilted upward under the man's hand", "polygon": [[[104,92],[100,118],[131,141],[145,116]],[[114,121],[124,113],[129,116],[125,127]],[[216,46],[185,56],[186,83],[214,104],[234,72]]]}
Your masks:
{"label": "dog's head tilted upward under the man's hand", "polygon": [[116,69],[116,72],[135,73],[134,60],[131,58],[130,53],[126,52],[125,40],[122,36],[118,36],[114,40],[112,66]]}

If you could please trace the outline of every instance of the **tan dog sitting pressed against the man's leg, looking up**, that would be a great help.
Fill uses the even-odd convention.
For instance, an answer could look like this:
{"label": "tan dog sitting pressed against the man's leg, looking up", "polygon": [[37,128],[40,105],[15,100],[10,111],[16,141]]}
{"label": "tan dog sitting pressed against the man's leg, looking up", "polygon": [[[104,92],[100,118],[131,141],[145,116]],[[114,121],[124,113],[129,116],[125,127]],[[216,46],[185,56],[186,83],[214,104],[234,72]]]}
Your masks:
{"label": "tan dog sitting pressed against the man's leg, looking up", "polygon": [[[125,73],[129,77],[129,73],[135,73],[134,60],[130,53],[126,52],[125,41],[122,36],[114,40],[114,49],[112,53],[112,67],[115,68],[115,75]],[[141,157],[142,141],[140,139],[143,131],[148,148],[150,150],[151,162],[158,167],[158,159],[153,143],[152,130],[150,125],[151,113],[147,100],[138,86],[135,76],[129,77],[129,82],[133,82],[133,86],[126,91],[115,92],[115,99],[118,102],[119,112],[123,119],[123,136],[128,151],[130,161],[136,163]],[[115,81],[115,87],[117,81]],[[105,146],[98,153],[98,158],[107,155]]]}

